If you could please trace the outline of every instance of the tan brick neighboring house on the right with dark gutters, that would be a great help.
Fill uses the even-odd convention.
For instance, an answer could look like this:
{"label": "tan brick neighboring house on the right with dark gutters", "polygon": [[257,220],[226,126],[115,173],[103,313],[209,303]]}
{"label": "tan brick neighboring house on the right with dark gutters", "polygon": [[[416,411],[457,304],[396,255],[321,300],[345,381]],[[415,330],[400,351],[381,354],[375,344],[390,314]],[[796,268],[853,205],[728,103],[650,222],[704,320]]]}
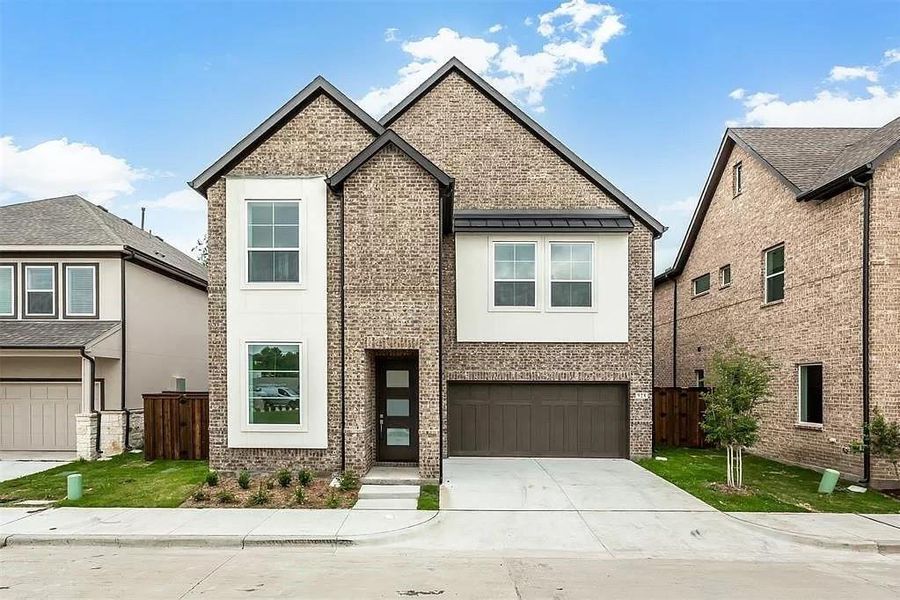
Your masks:
{"label": "tan brick neighboring house on the right with dark gutters", "polygon": [[[655,280],[655,385],[698,385],[734,339],[776,365],[754,451],[868,477],[847,452],[866,405],[900,418],[898,149],[900,119],[727,130]],[[892,477],[871,467],[876,484]]]}

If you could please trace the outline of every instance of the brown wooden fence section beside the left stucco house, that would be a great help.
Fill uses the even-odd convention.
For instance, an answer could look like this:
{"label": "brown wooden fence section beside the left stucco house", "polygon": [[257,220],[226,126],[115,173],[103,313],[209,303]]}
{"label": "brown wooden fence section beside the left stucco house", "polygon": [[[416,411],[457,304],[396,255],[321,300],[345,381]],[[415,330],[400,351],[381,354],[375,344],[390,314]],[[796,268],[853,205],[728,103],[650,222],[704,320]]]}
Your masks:
{"label": "brown wooden fence section beside the left stucco house", "polygon": [[209,458],[209,394],[144,394],[144,458]]}

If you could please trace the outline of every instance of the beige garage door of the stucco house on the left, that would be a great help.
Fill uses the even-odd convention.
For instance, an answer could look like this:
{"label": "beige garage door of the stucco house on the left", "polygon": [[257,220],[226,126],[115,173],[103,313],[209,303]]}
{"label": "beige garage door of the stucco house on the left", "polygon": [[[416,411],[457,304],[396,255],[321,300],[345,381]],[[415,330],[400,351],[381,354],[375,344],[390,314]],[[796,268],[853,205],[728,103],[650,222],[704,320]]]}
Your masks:
{"label": "beige garage door of the stucco house on the left", "polygon": [[80,383],[0,382],[0,450],[74,450]]}

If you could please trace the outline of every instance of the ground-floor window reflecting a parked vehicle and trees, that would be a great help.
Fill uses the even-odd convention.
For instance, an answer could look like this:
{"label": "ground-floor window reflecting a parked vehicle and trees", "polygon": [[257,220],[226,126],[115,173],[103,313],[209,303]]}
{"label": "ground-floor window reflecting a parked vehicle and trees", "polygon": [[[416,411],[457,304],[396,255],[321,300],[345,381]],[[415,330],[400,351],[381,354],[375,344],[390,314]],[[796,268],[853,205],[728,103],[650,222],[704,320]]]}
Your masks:
{"label": "ground-floor window reflecting a parked vehicle and trees", "polygon": [[300,424],[300,344],[248,344],[251,425]]}

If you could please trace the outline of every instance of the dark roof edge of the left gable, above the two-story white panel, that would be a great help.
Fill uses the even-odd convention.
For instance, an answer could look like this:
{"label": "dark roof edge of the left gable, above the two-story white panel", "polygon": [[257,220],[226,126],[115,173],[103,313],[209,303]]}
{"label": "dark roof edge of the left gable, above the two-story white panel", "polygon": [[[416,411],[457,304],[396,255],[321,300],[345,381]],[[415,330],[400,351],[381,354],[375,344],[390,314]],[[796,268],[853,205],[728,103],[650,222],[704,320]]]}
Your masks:
{"label": "dark roof edge of the left gable, above the two-story white panel", "polygon": [[373,119],[369,113],[357,106],[356,103],[345,96],[343,92],[319,75],[313,79],[309,85],[297,92],[297,95],[288,100],[284,106],[276,110],[268,119],[260,123],[256,129],[247,134],[244,139],[235,144],[235,146],[226,152],[219,160],[211,164],[205,171],[195,177],[193,181],[188,182],[188,185],[201,194],[205,194],[207,188],[215,183],[215,180],[219,175],[243,160],[254,148],[267,140],[272,133],[277,131],[285,122],[289,121],[298,112],[303,110],[320,94],[328,96],[335,104],[347,111],[350,116],[359,121],[360,124],[373,134],[381,135],[384,131],[384,128],[378,121]]}

